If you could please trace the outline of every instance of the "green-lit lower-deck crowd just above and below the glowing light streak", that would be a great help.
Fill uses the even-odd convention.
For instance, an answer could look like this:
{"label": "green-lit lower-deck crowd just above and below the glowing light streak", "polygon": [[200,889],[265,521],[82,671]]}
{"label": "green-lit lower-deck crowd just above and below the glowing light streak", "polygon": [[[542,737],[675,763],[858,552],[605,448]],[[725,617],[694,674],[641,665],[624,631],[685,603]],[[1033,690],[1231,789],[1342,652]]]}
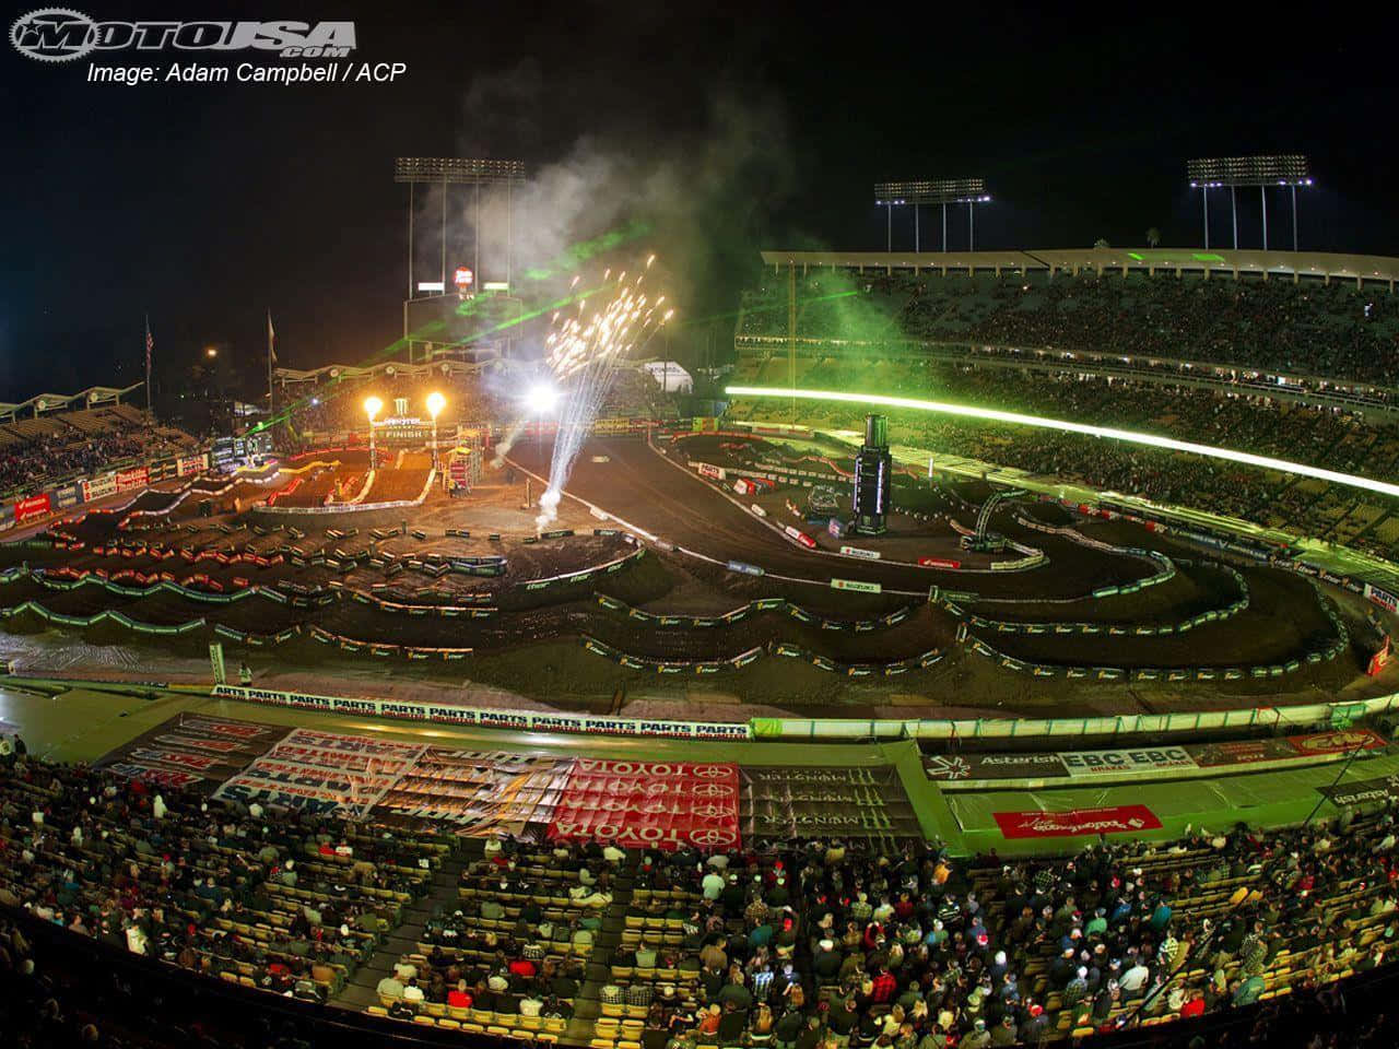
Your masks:
{"label": "green-lit lower-deck crowd just above and below the glowing light streak", "polygon": [[[785,361],[740,361],[737,382],[767,380]],[[783,376],[785,382],[785,376]],[[895,396],[1063,418],[1158,434],[1378,480],[1399,469],[1399,427],[1335,407],[1196,386],[1167,386],[1080,372],[1039,372],[946,361],[911,362],[876,352],[803,359],[799,385],[877,389]],[[761,418],[761,401],[733,406]],[[856,429],[862,408],[811,403],[811,425]],[[901,445],[1081,483],[1280,527],[1399,558],[1399,504],[1384,495],[1219,459],[1052,429],[919,411],[891,411]]]}

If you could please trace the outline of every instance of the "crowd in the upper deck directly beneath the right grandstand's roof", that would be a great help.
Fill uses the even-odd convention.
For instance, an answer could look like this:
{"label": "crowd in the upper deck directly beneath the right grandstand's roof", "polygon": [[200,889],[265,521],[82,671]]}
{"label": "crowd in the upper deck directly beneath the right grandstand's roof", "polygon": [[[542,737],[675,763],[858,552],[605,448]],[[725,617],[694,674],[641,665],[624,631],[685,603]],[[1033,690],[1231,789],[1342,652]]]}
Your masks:
{"label": "crowd in the upper deck directly beneath the right grandstand's roof", "polygon": [[[1353,283],[823,270],[800,298],[809,338],[1051,347],[1399,386],[1399,302]],[[786,333],[785,283],[743,305],[740,334]]]}

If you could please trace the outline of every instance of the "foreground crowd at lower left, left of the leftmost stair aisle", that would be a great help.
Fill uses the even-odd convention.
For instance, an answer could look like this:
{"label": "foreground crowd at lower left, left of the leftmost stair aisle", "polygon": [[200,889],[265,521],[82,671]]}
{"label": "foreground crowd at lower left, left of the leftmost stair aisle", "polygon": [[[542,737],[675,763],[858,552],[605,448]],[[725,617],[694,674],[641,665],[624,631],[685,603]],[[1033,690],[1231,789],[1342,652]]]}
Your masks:
{"label": "foreground crowd at lower left, left of the leftmost stair aisle", "polygon": [[323,1001],[418,898],[416,838],[11,759],[0,904],[206,976]]}

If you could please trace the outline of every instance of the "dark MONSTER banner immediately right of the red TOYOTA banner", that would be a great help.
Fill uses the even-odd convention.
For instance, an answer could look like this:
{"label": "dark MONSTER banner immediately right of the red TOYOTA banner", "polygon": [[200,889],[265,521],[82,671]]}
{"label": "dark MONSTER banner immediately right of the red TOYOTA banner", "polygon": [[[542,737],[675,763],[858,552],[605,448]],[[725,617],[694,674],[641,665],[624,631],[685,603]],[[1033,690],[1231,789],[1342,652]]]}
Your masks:
{"label": "dark MONSTER banner immediately right of the red TOYOTA banner", "polygon": [[898,772],[877,768],[743,768],[743,836],[922,838]]}

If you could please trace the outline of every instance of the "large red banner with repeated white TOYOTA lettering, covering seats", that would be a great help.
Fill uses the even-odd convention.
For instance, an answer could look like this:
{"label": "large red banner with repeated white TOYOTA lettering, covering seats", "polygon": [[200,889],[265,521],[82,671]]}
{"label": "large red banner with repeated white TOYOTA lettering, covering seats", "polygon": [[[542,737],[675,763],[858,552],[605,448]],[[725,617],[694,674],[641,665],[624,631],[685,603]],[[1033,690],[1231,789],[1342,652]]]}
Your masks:
{"label": "large red banner with repeated white TOYOTA lettering, covering seats", "polygon": [[739,766],[579,758],[548,836],[663,852],[737,849]]}

